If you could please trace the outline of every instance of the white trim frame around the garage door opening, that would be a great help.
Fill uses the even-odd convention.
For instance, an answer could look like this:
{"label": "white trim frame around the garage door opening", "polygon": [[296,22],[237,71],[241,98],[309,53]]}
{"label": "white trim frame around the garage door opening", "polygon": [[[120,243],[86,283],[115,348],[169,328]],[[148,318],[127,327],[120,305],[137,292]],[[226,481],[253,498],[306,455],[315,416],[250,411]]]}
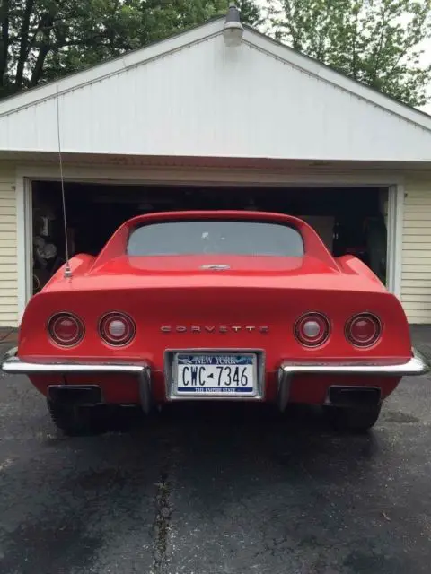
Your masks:
{"label": "white trim frame around the garage door opening", "polygon": [[[166,171],[163,173],[158,172],[159,177],[164,175],[163,178],[156,179],[154,170],[143,170],[140,171],[140,178],[132,179],[130,170],[112,170],[110,172],[110,178],[107,178],[107,174],[104,172],[104,178],[97,178],[94,170],[91,171],[91,177],[89,170],[81,168],[70,168],[65,170],[65,177],[69,181],[86,181],[88,183],[100,183],[101,185],[106,183],[127,183],[132,184],[148,184],[148,183],[158,183],[158,184],[171,184],[175,182],[176,184],[184,183],[196,183],[196,178],[193,179],[193,175],[196,175],[196,170],[186,170],[182,171],[182,178],[179,180],[174,178],[167,178]],[[230,174],[231,180],[227,178]],[[86,178],[84,176],[87,176]],[[136,177],[135,173],[135,177]],[[178,177],[177,173],[177,177]],[[216,180],[217,171],[212,173],[212,178],[210,181],[207,180],[207,184],[211,185],[213,180]],[[228,170],[227,174],[223,171],[218,172],[221,178],[218,181],[218,185],[227,186],[235,185],[238,179],[233,178],[232,170]],[[248,176],[250,178],[250,183],[256,185],[256,173],[254,171],[249,172]],[[75,176],[75,177],[74,177]],[[114,177],[115,176],[115,177]],[[189,179],[188,179],[189,176]],[[247,172],[242,172],[242,183],[247,183]],[[260,177],[261,176],[261,177]],[[299,177],[294,176],[290,178],[289,176],[284,176],[283,174],[259,174],[259,185],[275,185],[278,187],[319,187],[325,185],[331,185],[334,187],[388,187],[388,289],[394,293],[398,298],[400,298],[400,276],[401,276],[401,254],[402,254],[402,214],[403,214],[403,202],[404,202],[404,187],[402,179],[390,178],[389,176],[364,176],[364,177],[350,177],[346,176],[327,176],[326,178],[319,178],[314,176],[314,178],[307,178],[306,176]],[[16,193],[17,193],[17,221],[18,221],[18,237],[17,237],[17,253],[18,253],[18,313],[19,322],[21,322],[22,314],[25,309],[25,305],[30,299],[31,295],[31,179],[57,179],[58,173],[57,169],[53,168],[35,168],[35,167],[21,167],[16,170]],[[200,180],[205,183],[204,179]]]}

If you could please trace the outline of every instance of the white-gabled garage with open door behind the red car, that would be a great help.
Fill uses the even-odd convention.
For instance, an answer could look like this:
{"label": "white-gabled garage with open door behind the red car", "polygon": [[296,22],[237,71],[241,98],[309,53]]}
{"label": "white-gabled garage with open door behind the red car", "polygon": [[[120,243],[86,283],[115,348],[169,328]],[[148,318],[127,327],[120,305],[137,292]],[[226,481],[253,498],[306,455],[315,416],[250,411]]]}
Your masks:
{"label": "white-gabled garage with open door behind the red car", "polygon": [[224,18],[0,103],[0,327],[138,213],[303,217],[431,322],[431,117]]}

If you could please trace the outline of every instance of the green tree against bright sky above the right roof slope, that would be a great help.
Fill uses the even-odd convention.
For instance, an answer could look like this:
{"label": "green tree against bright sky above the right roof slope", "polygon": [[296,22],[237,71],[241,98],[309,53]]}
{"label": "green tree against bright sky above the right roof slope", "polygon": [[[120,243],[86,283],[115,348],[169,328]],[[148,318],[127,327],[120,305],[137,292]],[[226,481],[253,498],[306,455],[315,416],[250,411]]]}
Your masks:
{"label": "green tree against bright sky above the right roof slope", "polygon": [[[427,100],[430,0],[268,1],[276,39],[411,106]],[[422,63],[421,63],[422,62]]]}

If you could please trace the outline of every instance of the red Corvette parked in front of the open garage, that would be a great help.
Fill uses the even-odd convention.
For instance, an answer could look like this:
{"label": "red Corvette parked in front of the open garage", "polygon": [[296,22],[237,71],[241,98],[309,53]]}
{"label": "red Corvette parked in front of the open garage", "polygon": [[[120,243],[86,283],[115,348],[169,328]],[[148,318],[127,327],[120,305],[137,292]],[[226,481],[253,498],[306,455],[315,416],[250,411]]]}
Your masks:
{"label": "red Corvette parked in front of the open garage", "polygon": [[67,433],[101,404],[211,399],[321,404],[365,431],[403,376],[429,370],[400,301],[295,217],[142,215],[70,272],[31,299],[2,365]]}

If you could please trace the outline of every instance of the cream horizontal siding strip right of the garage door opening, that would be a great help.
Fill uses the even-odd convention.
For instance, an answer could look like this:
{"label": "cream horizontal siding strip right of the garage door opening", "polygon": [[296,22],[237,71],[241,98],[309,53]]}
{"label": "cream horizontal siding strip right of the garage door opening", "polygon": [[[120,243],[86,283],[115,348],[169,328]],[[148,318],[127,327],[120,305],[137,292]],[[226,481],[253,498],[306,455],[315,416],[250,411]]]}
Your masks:
{"label": "cream horizontal siding strip right of the garage door opening", "polygon": [[404,202],[401,301],[410,323],[431,323],[431,174],[408,179]]}

